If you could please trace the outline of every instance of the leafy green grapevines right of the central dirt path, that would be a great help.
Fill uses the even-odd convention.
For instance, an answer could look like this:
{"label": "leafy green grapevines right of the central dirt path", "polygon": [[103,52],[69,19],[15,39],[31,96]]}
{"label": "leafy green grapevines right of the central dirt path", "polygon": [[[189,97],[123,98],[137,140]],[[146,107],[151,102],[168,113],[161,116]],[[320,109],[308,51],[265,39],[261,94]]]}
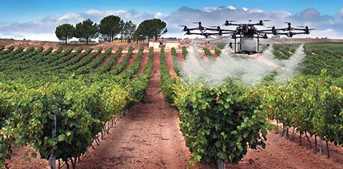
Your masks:
{"label": "leafy green grapevines right of the central dirt path", "polygon": [[[287,53],[293,52],[289,49]],[[265,148],[267,130],[273,128],[267,119],[342,145],[343,78],[337,73],[341,67],[335,66],[343,61],[342,56],[342,51],[313,49],[307,52],[300,73],[284,85],[249,86],[227,79],[221,86],[209,86],[192,78],[196,72],[171,79],[162,50],[161,89],[167,101],[179,109],[180,128],[192,152],[191,164],[201,159],[237,164],[247,148]],[[173,63],[179,73],[180,63]]]}

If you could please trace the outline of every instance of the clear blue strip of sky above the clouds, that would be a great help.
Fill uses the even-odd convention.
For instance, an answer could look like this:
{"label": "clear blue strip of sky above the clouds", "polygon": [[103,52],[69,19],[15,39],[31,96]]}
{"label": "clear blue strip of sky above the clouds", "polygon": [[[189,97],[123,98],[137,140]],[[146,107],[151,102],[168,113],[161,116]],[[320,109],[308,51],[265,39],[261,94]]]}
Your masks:
{"label": "clear blue strip of sky above the clouds", "polygon": [[[326,3],[325,3],[326,2]],[[0,21],[30,21],[67,12],[97,10],[137,10],[172,13],[182,6],[235,6],[262,10],[285,10],[292,14],[314,7],[322,15],[334,15],[343,6],[342,0],[0,0]]]}

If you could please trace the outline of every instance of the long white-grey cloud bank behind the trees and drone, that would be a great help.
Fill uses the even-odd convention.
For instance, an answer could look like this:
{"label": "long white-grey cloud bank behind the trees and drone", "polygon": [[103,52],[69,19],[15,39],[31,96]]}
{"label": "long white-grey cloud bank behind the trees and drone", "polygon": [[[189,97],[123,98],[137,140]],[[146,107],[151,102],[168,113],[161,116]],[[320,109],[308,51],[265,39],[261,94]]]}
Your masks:
{"label": "long white-grey cloud bank behind the trees and drone", "polygon": [[[181,33],[181,27],[178,25],[188,25],[196,27],[191,22],[201,21],[204,26],[222,25],[226,20],[235,20],[246,23],[248,20],[258,22],[259,20],[271,20],[266,22],[266,26],[286,27],[283,22],[291,22],[292,26],[305,26],[316,28],[309,35],[296,35],[294,37],[312,37],[312,38],[332,38],[343,39],[343,7],[337,11],[335,16],[321,15],[315,8],[308,8],[294,15],[283,10],[265,11],[258,8],[236,8],[234,6],[204,7],[194,9],[181,7],[176,12],[165,14],[157,12],[155,14],[142,13],[135,10],[117,10],[117,11],[98,11],[90,9],[82,13],[68,12],[63,16],[47,16],[43,19],[28,22],[15,22],[9,25],[0,26],[0,38],[30,39],[42,41],[58,41],[55,36],[55,29],[58,25],[71,23],[75,25],[80,21],[91,19],[99,22],[108,15],[120,16],[124,21],[133,21],[137,25],[144,20],[159,18],[167,22],[168,33],[165,37],[185,38]],[[234,29],[234,26],[225,27]],[[258,27],[264,29],[264,27]]]}

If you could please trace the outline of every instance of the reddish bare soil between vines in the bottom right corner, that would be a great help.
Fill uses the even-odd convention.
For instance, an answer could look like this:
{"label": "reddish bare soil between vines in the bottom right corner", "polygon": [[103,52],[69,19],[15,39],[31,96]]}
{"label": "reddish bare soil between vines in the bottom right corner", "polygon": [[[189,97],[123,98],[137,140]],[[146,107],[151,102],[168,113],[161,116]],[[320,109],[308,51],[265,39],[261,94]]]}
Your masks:
{"label": "reddish bare soil between vines in the bottom right corner", "polygon": [[[342,163],[337,159],[319,156],[314,149],[299,146],[298,143],[287,140],[270,131],[267,135],[266,149],[249,149],[242,162],[234,169],[342,169]],[[249,164],[249,159],[254,161]],[[343,158],[341,158],[342,162]]]}

